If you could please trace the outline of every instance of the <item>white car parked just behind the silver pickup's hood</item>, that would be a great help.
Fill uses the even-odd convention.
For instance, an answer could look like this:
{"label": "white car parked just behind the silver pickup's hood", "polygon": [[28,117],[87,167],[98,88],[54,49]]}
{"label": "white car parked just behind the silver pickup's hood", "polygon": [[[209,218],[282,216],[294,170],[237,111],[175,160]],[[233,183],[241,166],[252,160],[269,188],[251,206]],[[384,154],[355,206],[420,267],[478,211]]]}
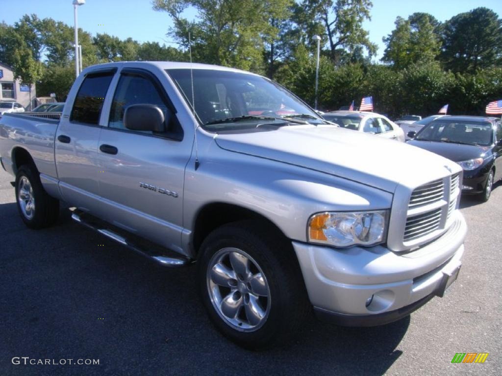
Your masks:
{"label": "white car parked just behind the silver pickup's hood", "polygon": [[405,134],[396,123],[374,112],[331,111],[326,112],[322,117],[345,129],[378,134],[385,138],[405,141]]}

